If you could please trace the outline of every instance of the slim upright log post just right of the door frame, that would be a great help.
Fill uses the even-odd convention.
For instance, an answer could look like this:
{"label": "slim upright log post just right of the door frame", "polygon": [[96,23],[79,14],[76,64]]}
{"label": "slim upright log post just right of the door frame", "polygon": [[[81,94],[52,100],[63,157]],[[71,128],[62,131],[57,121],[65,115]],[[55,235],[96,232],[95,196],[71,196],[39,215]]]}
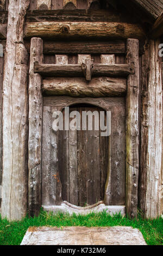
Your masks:
{"label": "slim upright log post just right of the door frame", "polygon": [[126,96],[126,211],[137,216],[139,175],[139,40],[127,40],[127,62],[134,63],[135,74],[127,79]]}

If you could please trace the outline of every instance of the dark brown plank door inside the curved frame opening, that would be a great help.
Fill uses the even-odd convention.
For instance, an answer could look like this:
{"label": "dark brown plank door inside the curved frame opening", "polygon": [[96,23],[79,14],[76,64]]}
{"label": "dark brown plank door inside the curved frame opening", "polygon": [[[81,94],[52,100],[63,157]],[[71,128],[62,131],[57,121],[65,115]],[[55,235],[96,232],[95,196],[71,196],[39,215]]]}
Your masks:
{"label": "dark brown plank door inside the curved frame opening", "polygon": [[[99,112],[104,112],[104,109],[88,105],[70,107],[70,113],[72,111],[80,114],[82,126],[84,111],[94,112],[99,117]],[[92,117],[92,130],[88,130],[86,124],[86,130],[81,127],[80,130],[59,131],[62,200],[78,206],[92,205],[104,199],[108,173],[108,137],[101,136],[100,127],[95,130],[96,119]]]}

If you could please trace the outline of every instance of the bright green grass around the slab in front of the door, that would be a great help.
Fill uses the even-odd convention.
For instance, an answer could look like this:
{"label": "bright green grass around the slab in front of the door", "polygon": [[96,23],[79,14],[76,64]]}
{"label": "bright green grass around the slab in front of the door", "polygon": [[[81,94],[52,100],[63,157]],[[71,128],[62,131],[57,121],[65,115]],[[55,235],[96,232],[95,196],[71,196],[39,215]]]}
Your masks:
{"label": "bright green grass around the slab in front of the door", "polygon": [[111,217],[106,212],[88,215],[64,215],[64,214],[47,214],[40,211],[38,217],[26,217],[22,221],[9,222],[2,220],[0,216],[0,245],[20,245],[24,234],[30,226],[48,227],[57,226],[86,226],[86,227],[112,227],[115,225],[132,226],[138,228],[148,245],[163,245],[163,220],[144,220],[140,215],[134,220],[127,217],[115,215]]}

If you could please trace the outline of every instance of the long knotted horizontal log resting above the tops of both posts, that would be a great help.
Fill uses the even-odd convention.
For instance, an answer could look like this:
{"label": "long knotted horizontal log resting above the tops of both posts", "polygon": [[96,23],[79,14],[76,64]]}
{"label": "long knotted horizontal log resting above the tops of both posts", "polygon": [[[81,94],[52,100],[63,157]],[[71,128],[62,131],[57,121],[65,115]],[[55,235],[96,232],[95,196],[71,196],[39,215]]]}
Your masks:
{"label": "long knotted horizontal log resting above the tops of both posts", "polygon": [[143,29],[138,24],[118,22],[27,22],[24,38],[40,36],[48,39],[76,38],[145,38]]}

